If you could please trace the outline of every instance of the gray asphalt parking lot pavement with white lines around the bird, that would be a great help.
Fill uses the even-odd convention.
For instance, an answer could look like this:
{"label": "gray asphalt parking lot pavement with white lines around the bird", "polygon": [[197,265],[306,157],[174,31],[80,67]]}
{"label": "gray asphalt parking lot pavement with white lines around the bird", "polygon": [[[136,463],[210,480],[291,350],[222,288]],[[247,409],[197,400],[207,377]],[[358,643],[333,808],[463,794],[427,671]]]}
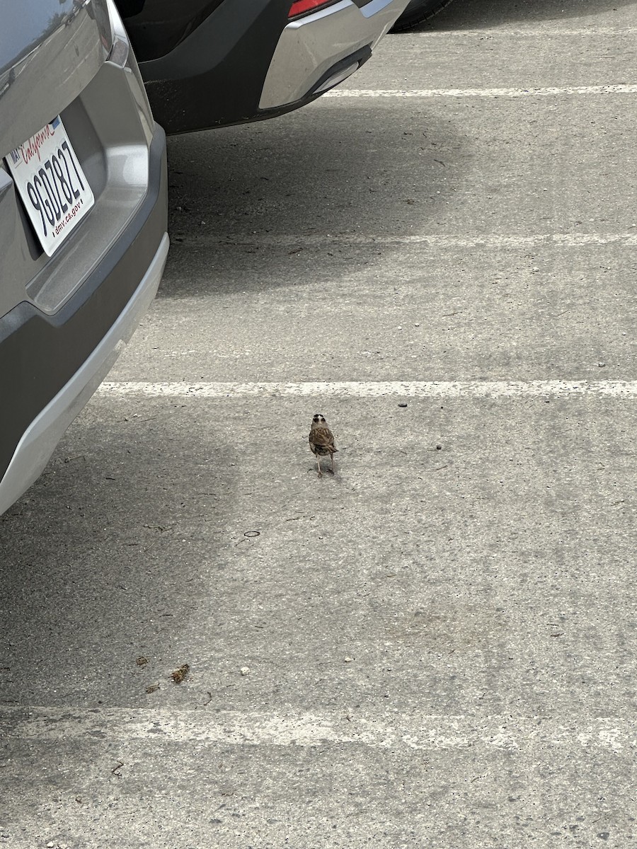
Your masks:
{"label": "gray asphalt parking lot pavement with white lines around the bird", "polygon": [[0,519],[0,846],[637,842],[635,37],[455,0],[169,140],[160,293]]}

